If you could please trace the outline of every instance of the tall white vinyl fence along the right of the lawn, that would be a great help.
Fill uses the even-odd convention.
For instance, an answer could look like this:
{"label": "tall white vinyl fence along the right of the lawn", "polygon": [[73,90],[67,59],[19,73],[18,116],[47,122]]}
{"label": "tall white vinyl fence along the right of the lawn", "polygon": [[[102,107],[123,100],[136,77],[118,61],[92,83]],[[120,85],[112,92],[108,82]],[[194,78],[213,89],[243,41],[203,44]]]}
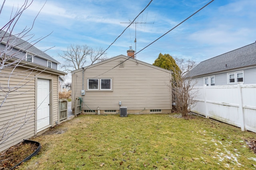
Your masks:
{"label": "tall white vinyl fence along the right of the lawn", "polygon": [[256,133],[256,84],[195,87],[191,111]]}

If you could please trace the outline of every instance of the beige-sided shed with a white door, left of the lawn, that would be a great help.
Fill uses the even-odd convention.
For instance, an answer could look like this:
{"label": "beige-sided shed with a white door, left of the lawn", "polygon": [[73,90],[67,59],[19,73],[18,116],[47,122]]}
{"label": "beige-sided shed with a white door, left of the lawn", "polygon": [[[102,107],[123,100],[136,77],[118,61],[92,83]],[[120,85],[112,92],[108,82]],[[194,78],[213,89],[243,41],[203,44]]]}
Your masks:
{"label": "beige-sided shed with a white door, left of the lawn", "polygon": [[[31,69],[31,70],[29,70]],[[50,68],[43,68],[34,64],[26,64],[12,69],[5,69],[0,72],[1,91],[0,100],[0,151],[8,149],[12,145],[20,143],[34,135],[38,135],[49,127],[59,122],[58,117],[58,74],[63,72]],[[20,76],[22,72],[22,77]],[[9,75],[12,74],[9,79]],[[38,82],[46,80],[49,82],[49,91],[46,93],[50,100],[49,123],[44,127],[38,127]],[[9,84],[13,90],[4,99],[5,88]],[[4,100],[4,102],[3,102]]]}

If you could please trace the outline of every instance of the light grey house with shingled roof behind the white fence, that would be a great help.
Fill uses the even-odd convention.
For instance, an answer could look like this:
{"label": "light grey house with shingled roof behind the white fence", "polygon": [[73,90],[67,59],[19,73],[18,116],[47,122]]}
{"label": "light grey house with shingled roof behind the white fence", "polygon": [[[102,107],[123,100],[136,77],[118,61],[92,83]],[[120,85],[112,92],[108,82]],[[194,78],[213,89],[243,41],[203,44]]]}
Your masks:
{"label": "light grey house with shingled roof behind the white fence", "polygon": [[256,84],[256,43],[202,61],[189,76],[195,86]]}

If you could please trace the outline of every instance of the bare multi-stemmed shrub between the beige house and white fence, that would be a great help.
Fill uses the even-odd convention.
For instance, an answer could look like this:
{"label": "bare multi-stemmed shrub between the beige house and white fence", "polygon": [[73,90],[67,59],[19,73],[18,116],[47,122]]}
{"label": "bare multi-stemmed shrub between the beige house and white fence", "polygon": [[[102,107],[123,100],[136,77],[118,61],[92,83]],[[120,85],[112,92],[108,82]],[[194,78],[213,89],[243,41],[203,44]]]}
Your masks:
{"label": "bare multi-stemmed shrub between the beige house and white fence", "polygon": [[196,101],[193,100],[197,94],[197,91],[193,89],[196,82],[192,81],[189,76],[190,70],[196,64],[194,61],[185,61],[178,58],[175,61],[181,71],[173,72],[172,74],[172,80],[175,80],[176,83],[172,88],[172,101],[175,103],[176,111],[182,113],[183,117],[186,117],[190,109],[196,104]]}

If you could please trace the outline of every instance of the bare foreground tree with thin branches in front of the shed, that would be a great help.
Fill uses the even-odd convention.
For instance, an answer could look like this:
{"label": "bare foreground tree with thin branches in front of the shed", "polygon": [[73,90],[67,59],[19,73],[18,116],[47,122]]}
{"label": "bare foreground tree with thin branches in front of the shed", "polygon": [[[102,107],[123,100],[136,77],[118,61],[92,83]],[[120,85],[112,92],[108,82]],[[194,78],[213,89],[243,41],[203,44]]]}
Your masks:
{"label": "bare foreground tree with thin branches in front of the shed", "polygon": [[[9,21],[0,28],[0,119],[2,121],[0,125],[0,146],[5,145],[4,143],[13,135],[20,133],[21,129],[34,127],[35,106],[22,103],[22,101],[12,102],[13,98],[24,98],[26,94],[33,91],[35,78],[40,77],[39,75],[44,71],[44,69],[39,71],[37,66],[33,67],[30,62],[26,61],[44,53],[26,54],[26,51],[29,51],[31,47],[45,38],[32,40],[34,35],[30,34],[34,21],[43,7],[32,21],[31,27],[25,27],[19,33],[14,33],[18,20],[32,2],[33,0],[24,0],[21,6],[13,7]],[[4,5],[5,0],[1,5],[0,15]],[[10,110],[12,114],[6,115],[6,113],[10,113]]]}

